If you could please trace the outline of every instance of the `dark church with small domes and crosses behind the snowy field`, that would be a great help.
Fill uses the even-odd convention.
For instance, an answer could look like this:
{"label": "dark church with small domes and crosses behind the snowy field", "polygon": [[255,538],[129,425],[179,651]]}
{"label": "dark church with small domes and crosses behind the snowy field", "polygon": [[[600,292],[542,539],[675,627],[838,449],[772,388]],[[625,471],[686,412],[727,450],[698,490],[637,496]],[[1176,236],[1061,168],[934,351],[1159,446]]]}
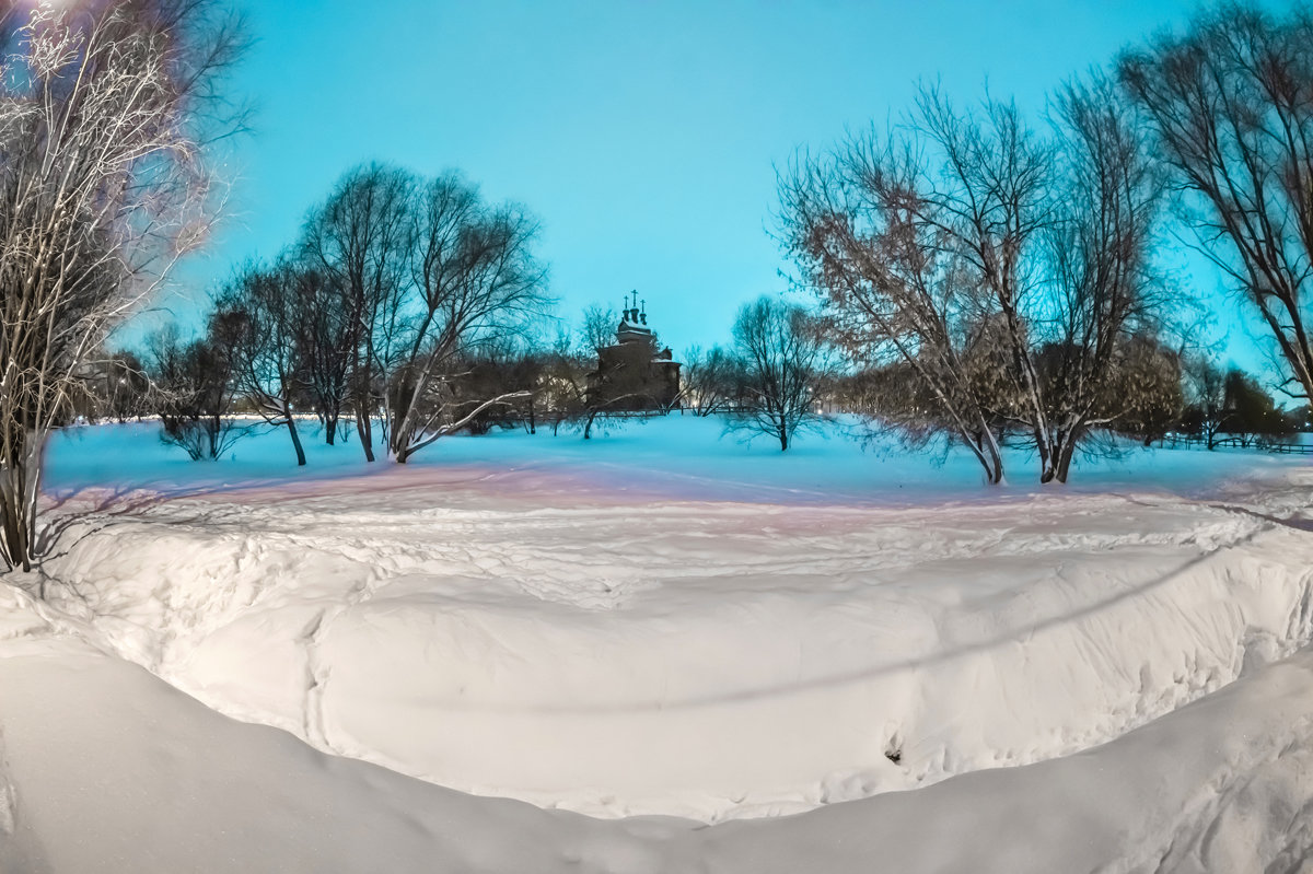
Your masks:
{"label": "dark church with small domes and crosses behind the snowy field", "polygon": [[588,404],[616,412],[670,409],[679,403],[679,362],[670,346],[656,348],[647,327],[647,302],[630,306],[616,328],[616,343],[597,350],[597,369],[588,374]]}

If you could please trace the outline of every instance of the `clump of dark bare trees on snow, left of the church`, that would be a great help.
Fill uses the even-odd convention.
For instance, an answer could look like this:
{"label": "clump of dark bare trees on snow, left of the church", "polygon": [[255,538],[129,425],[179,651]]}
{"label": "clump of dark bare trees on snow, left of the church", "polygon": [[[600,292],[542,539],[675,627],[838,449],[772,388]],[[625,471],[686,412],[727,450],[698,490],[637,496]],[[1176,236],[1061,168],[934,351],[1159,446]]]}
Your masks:
{"label": "clump of dark bare trees on snow, left of the church", "polygon": [[147,341],[140,358],[165,436],[215,458],[244,406],[285,428],[303,465],[299,409],[328,444],[347,423],[366,459],[407,462],[525,396],[475,387],[481,366],[550,303],[537,232],[523,207],[486,202],[458,173],[349,171],[297,241],[219,289],[202,336],[168,328]]}

